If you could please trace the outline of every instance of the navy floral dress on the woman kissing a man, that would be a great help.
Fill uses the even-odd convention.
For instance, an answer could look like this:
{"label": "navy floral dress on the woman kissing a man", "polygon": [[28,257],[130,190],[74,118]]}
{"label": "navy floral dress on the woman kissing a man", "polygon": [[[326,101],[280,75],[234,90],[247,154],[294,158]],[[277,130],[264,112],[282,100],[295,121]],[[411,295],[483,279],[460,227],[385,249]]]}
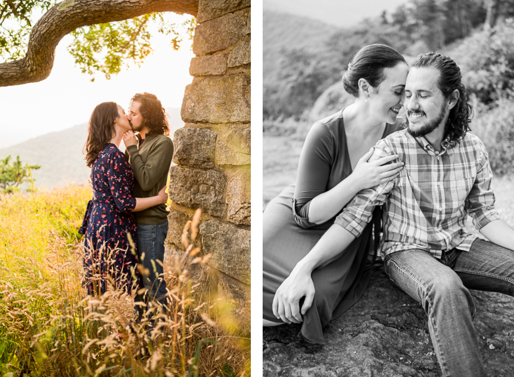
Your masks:
{"label": "navy floral dress on the woman kissing a man", "polygon": [[136,222],[132,210],[134,173],[115,144],[109,143],[91,169],[93,199],[87,203],[80,234],[84,242],[84,285],[87,293],[103,294],[108,284],[131,293],[139,283],[137,257],[131,252],[127,233],[137,250]]}

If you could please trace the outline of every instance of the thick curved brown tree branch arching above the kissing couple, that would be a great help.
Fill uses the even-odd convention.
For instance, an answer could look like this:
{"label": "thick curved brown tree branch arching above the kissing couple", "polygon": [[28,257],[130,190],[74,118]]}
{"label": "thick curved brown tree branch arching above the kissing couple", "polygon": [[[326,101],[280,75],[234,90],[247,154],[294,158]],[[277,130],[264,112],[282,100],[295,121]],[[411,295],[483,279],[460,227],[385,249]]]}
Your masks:
{"label": "thick curved brown tree branch arching above the kissing couple", "polygon": [[0,87],[46,79],[59,41],[75,29],[151,12],[196,16],[198,0],[65,0],[50,8],[34,25],[25,58],[0,64]]}

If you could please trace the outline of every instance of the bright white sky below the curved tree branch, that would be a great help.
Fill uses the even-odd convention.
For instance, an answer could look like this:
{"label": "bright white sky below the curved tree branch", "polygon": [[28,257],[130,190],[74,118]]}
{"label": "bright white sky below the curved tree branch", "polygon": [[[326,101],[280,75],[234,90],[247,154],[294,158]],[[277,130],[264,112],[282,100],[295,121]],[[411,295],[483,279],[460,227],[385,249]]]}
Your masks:
{"label": "bright white sky below the curved tree branch", "polygon": [[[191,16],[170,13],[170,17],[171,22],[179,24]],[[71,37],[65,36],[46,80],[0,88],[0,148],[85,123],[95,106],[104,101],[117,102],[127,109],[137,92],[154,93],[164,107],[181,107],[184,89],[193,80],[189,66],[194,54],[189,40],[182,42],[179,51],[169,47],[169,40],[155,35],[155,52],[140,68],[132,63],[111,80],[97,74],[91,83],[89,76],[75,67],[66,50]]]}

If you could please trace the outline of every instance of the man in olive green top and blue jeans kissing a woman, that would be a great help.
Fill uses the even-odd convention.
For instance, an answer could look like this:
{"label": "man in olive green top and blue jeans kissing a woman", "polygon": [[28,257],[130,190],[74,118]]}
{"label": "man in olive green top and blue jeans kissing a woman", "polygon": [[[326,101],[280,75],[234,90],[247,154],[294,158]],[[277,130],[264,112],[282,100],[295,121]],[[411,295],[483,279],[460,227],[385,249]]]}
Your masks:
{"label": "man in olive green top and blue jeans kissing a woman", "polygon": [[[166,185],[171,159],[173,141],[169,138],[170,128],[166,112],[156,96],[149,93],[136,94],[128,111],[136,135],[127,131],[123,136],[126,146],[125,155],[132,166],[136,182],[133,195],[146,198],[157,195]],[[168,210],[166,204],[159,204],[149,209],[134,213],[137,225],[137,252],[139,263],[144,267],[143,285],[147,289],[144,297],[136,295],[135,302],[146,301],[148,309],[160,307],[166,312],[167,290],[163,279],[162,263],[164,259],[164,239],[168,233]],[[146,272],[149,272],[146,275]],[[138,308],[138,319],[143,310]],[[153,310],[149,311],[150,328]]]}

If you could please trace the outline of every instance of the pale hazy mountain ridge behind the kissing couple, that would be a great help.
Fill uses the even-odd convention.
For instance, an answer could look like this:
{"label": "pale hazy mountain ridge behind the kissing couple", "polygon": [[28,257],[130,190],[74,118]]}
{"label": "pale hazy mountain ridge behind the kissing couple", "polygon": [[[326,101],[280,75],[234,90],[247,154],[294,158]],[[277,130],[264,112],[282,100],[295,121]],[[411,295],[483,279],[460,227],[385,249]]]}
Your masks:
{"label": "pale hazy mountain ridge behind the kissing couple", "polygon": [[[171,137],[184,126],[180,108],[167,108],[170,118]],[[32,171],[34,184],[40,189],[53,189],[68,183],[86,183],[91,169],[86,166],[82,148],[87,139],[87,123],[75,125],[62,131],[38,136],[27,141],[0,148],[0,158],[20,156],[23,164],[38,164],[41,168]],[[123,148],[121,143],[120,148]]]}

